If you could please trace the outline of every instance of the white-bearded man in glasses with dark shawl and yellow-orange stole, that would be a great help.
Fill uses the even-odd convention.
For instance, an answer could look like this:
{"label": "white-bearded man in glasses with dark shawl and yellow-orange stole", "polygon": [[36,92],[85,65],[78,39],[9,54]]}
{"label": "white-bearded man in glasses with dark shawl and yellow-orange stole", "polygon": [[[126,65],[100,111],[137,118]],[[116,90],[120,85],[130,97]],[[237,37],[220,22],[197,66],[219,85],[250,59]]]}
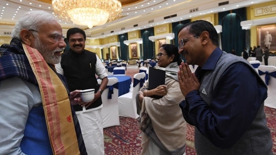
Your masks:
{"label": "white-bearded man in glasses with dark shawl and yellow-orange stole", "polygon": [[52,14],[31,11],[0,47],[0,154],[87,154],[69,92],[56,73],[66,44]]}

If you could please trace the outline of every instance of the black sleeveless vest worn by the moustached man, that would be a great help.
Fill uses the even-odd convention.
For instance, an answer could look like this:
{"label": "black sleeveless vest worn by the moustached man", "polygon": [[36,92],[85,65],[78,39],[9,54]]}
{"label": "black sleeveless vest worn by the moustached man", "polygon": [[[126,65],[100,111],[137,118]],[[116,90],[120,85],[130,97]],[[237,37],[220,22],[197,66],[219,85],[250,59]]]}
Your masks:
{"label": "black sleeveless vest worn by the moustached man", "polygon": [[[64,52],[61,56],[60,65],[63,69],[63,75],[66,78],[69,91],[76,89],[95,89],[95,93],[98,91],[100,85],[98,85],[96,79],[96,54],[87,50],[83,50],[81,54],[73,52],[71,49]],[[102,98],[100,97],[86,109],[95,108],[102,105]],[[80,105],[73,106],[75,111],[81,111]]]}

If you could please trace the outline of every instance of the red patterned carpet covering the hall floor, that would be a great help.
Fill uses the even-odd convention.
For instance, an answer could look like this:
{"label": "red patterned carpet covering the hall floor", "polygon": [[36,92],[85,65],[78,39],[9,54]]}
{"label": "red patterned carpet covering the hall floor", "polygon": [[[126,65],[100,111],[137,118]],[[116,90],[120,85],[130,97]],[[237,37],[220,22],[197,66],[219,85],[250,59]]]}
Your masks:
{"label": "red patterned carpet covering the hall floor", "polygon": [[[127,69],[126,74],[133,78],[138,69]],[[273,140],[273,153],[276,154],[276,109],[265,107],[267,125],[270,128]],[[194,126],[187,124],[187,155],[195,155]],[[141,131],[138,121],[133,118],[121,117],[120,126],[112,126],[104,129],[105,154],[135,155],[141,154]]]}

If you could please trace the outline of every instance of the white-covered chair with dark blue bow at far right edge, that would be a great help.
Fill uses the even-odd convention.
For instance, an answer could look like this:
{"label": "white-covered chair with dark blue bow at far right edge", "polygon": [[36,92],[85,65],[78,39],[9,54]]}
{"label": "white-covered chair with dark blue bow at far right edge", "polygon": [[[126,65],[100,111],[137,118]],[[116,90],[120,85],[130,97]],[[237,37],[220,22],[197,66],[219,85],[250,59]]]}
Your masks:
{"label": "white-covered chair with dark blue bow at far right edge", "polygon": [[258,73],[267,85],[267,98],[264,100],[264,105],[276,108],[276,67],[260,65]]}

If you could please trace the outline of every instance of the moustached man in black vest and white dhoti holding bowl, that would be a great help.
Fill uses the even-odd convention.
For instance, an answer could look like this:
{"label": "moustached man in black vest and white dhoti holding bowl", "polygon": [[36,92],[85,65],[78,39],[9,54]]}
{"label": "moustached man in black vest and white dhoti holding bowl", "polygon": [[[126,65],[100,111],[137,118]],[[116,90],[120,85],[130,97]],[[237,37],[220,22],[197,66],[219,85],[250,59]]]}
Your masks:
{"label": "moustached man in black vest and white dhoti holding bowl", "polygon": [[[67,31],[66,38],[70,49],[62,54],[61,62],[56,67],[63,74],[69,90],[95,89],[95,98],[91,102],[74,105],[83,140],[88,154],[105,154],[104,130],[102,119],[101,95],[108,84],[108,74],[96,53],[85,50],[85,32],[79,28]],[[98,85],[97,78],[102,79]]]}

